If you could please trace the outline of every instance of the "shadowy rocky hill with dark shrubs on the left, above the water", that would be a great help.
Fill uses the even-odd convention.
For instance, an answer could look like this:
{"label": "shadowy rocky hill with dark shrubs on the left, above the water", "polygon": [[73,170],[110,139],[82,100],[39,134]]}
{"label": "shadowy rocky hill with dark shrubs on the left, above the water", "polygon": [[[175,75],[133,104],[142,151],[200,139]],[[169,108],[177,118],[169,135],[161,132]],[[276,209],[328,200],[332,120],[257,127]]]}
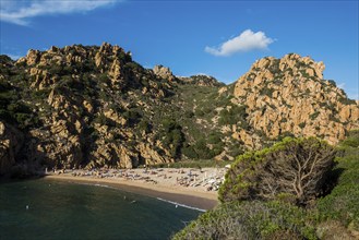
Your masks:
{"label": "shadowy rocky hill with dark shrubs on the left, above the water", "polygon": [[[29,50],[16,62],[2,60],[1,84],[8,95],[16,92],[19,99],[7,95],[1,117],[25,133],[22,152],[28,163],[132,168],[140,163],[173,161],[152,132],[144,134],[145,127],[139,128],[146,121],[144,111],[159,105],[170,87],[120,47],[51,47]],[[13,112],[11,106],[25,106],[29,112]],[[2,124],[2,172],[15,163],[19,152],[13,149],[19,141],[8,132]]]}

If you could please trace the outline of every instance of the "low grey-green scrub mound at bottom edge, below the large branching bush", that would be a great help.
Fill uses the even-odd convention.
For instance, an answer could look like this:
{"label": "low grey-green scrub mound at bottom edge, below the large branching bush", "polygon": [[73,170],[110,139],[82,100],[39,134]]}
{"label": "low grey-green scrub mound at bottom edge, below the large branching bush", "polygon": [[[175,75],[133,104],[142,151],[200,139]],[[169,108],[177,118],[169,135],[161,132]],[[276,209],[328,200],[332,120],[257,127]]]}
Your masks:
{"label": "low grey-green scrub mound at bottom edge, below the large branching bush", "polygon": [[223,204],[202,214],[172,239],[316,239],[313,218],[304,209],[279,202]]}

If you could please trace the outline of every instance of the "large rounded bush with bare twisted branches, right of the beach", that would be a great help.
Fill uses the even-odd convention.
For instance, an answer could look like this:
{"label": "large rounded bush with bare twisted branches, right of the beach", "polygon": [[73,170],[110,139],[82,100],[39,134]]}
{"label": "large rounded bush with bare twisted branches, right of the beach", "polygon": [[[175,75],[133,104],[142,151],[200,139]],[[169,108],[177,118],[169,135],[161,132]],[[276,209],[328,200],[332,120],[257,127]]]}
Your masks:
{"label": "large rounded bush with bare twisted branches, right of the beach", "polygon": [[335,153],[314,137],[287,137],[270,148],[246,153],[228,170],[219,200],[273,200],[290,194],[297,204],[308,204],[326,190]]}

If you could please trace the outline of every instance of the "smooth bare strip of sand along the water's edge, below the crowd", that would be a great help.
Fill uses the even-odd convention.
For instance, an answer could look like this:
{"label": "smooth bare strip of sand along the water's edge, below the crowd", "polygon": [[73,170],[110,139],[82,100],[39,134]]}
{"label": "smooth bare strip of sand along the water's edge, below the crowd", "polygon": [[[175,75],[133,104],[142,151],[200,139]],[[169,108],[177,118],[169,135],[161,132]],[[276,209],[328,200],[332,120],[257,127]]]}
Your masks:
{"label": "smooth bare strip of sand along the water's edge, below the crowd", "polygon": [[155,197],[159,201],[186,205],[198,209],[212,209],[218,204],[216,191],[205,191],[199,188],[186,188],[182,185],[149,184],[135,180],[118,178],[94,178],[88,176],[74,177],[69,173],[46,175],[43,179],[60,180],[74,183],[107,184],[125,192]]}

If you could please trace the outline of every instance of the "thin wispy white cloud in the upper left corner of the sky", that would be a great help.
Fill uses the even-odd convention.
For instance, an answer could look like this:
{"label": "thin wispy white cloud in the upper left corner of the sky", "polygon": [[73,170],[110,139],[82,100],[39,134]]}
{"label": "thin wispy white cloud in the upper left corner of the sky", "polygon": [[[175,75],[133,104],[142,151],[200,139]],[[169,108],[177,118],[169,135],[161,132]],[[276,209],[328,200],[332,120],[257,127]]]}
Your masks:
{"label": "thin wispy white cloud in the upper left corner of the sky", "polygon": [[39,15],[87,12],[113,4],[120,0],[0,0],[0,20],[28,25],[29,19]]}

